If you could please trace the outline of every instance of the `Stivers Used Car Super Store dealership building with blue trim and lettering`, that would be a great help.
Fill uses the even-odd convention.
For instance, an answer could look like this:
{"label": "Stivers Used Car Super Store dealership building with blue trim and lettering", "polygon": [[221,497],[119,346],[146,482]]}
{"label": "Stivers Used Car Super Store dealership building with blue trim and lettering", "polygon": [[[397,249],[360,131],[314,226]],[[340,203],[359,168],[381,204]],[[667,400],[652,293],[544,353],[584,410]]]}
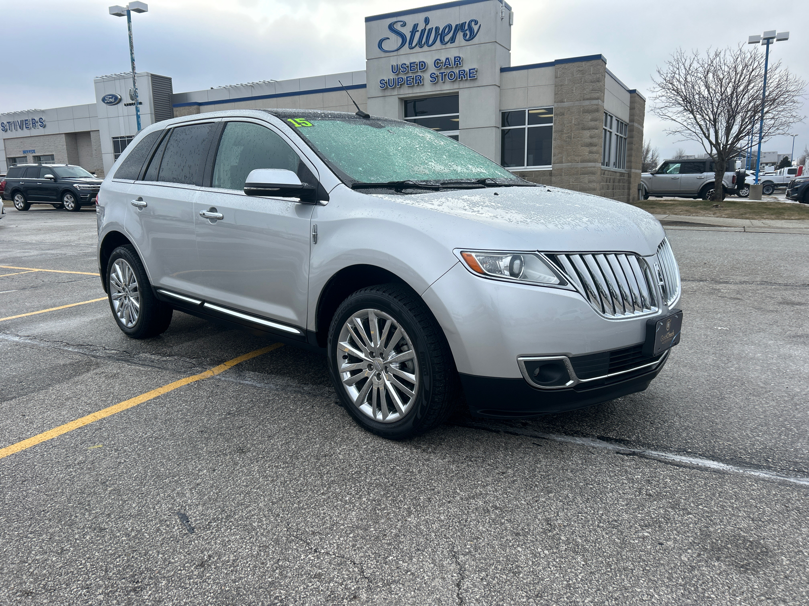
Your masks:
{"label": "Stivers Used Car Super Store dealership building with blue trim and lettering", "polygon": [[[603,55],[511,65],[514,19],[503,0],[366,17],[365,69],[343,74],[176,93],[171,78],[139,73],[142,126],[232,109],[355,112],[350,94],[373,116],[432,128],[523,179],[637,200],[646,99]],[[0,114],[0,172],[66,162],[105,175],[138,133],[132,77],[94,83],[95,103]]]}

